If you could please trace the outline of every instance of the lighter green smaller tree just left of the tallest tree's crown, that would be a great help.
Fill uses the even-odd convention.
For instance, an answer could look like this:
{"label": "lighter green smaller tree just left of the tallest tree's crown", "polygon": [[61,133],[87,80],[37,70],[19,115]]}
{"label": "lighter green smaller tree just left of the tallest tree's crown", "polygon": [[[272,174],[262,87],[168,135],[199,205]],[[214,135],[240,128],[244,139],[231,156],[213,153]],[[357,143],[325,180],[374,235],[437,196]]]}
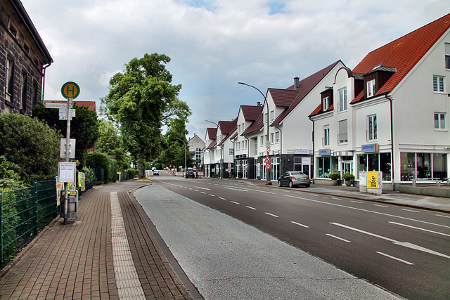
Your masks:
{"label": "lighter green smaller tree just left of the tallest tree's crown", "polygon": [[113,126],[113,123],[101,119],[97,150],[113,155],[119,169],[125,170],[129,167],[129,157],[127,157],[122,144],[122,136],[119,135],[119,131]]}

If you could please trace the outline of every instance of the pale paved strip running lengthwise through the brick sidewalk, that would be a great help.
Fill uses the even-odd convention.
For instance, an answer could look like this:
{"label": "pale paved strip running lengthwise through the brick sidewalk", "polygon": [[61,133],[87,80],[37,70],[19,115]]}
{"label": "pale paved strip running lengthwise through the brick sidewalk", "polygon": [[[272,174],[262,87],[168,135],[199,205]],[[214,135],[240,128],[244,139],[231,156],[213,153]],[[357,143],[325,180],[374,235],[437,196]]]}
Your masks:
{"label": "pale paved strip running lengthwise through the brick sidewalk", "polygon": [[130,294],[134,295],[134,299],[146,299],[133,256],[131,256],[117,192],[110,193],[110,202],[113,267],[119,299],[126,299]]}

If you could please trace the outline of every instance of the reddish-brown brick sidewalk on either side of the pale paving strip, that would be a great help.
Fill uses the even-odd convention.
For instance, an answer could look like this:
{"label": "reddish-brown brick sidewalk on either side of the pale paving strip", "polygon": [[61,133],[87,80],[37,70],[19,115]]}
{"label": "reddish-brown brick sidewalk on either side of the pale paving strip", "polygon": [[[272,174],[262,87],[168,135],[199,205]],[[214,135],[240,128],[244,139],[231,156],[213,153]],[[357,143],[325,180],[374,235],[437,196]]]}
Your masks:
{"label": "reddish-brown brick sidewalk on either side of the pale paving strip", "polygon": [[[136,185],[136,187],[139,185]],[[85,193],[79,218],[40,233],[0,280],[0,299],[119,299],[113,264],[110,193],[117,192],[129,249],[146,299],[193,299],[175,273],[129,183]],[[117,188],[117,189],[116,189]],[[146,220],[147,219],[147,220]],[[198,299],[196,291],[192,291]]]}

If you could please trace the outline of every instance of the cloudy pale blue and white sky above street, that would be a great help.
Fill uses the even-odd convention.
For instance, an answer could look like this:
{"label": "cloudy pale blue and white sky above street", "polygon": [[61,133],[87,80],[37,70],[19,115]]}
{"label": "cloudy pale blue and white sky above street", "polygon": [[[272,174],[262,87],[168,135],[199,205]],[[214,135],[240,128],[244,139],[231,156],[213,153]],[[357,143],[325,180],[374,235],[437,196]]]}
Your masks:
{"label": "cloudy pale blue and white sky above street", "polygon": [[180,98],[193,111],[189,137],[342,60],[353,69],[369,51],[450,12],[448,0],[22,0],[54,63],[46,100],[108,94],[131,58],[164,53]]}

